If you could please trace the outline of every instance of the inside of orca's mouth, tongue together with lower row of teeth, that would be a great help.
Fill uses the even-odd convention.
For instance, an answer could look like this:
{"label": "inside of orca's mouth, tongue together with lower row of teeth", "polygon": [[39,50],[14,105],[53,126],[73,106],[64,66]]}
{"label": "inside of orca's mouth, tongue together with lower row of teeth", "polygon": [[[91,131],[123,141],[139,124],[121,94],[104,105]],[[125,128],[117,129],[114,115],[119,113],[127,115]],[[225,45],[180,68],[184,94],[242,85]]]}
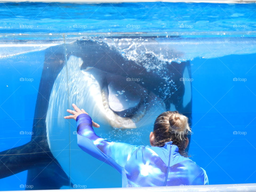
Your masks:
{"label": "inside of orca's mouth, tongue together with lower row of teeth", "polygon": [[111,126],[119,127],[137,123],[145,115],[148,105],[148,90],[134,81],[127,81],[118,75],[106,75],[102,87],[102,103],[106,113],[111,119]]}

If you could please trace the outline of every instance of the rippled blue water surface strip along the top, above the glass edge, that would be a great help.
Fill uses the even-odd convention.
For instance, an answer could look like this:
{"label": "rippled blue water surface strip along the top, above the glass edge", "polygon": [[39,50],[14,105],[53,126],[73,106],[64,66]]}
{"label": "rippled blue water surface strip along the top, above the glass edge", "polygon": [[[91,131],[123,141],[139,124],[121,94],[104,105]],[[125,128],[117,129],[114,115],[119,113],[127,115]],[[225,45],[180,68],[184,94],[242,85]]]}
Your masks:
{"label": "rippled blue water surface strip along the top, above the glass edge", "polygon": [[254,3],[1,3],[0,33],[253,31]]}

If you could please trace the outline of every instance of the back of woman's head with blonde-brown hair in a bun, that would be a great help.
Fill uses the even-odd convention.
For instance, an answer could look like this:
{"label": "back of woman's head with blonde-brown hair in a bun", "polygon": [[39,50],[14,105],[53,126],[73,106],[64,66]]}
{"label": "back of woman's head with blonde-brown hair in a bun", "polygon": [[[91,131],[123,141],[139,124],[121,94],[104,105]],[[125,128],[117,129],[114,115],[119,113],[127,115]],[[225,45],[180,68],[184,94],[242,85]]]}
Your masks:
{"label": "back of woman's head with blonde-brown hair in a bun", "polygon": [[187,156],[185,141],[191,132],[188,118],[178,111],[166,111],[160,114],[154,123],[155,145],[162,147],[166,142],[173,141],[179,153]]}

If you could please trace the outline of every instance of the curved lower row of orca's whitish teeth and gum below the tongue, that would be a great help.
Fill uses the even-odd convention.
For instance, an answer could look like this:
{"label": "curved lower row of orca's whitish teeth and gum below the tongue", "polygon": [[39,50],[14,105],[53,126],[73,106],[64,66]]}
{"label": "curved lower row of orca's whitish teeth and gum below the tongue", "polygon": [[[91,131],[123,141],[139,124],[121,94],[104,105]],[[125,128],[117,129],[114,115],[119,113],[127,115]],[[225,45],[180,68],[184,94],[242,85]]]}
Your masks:
{"label": "curved lower row of orca's whitish teeth and gum below the tongue", "polygon": [[[135,123],[140,121],[145,113],[146,109],[145,106],[141,106],[138,111],[142,111],[141,114],[134,114],[132,117],[120,117],[119,115],[115,114],[113,110],[110,109],[108,98],[107,98],[107,87],[103,87],[101,91],[102,95],[102,104],[106,111],[107,120],[109,121],[110,125],[115,128],[137,128]],[[144,109],[143,109],[144,108]]]}

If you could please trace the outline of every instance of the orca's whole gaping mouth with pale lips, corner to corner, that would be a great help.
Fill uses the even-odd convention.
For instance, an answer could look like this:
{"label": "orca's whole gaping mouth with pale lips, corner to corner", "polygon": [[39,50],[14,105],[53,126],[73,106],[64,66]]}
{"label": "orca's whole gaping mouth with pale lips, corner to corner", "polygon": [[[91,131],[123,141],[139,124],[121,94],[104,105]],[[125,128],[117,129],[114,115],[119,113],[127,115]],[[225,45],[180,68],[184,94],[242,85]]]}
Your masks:
{"label": "orca's whole gaping mouth with pale lips, corner to corner", "polygon": [[165,109],[162,99],[138,83],[142,79],[126,78],[94,67],[87,67],[82,72],[98,82],[104,114],[112,127],[136,128],[135,123],[150,108],[162,105]]}

